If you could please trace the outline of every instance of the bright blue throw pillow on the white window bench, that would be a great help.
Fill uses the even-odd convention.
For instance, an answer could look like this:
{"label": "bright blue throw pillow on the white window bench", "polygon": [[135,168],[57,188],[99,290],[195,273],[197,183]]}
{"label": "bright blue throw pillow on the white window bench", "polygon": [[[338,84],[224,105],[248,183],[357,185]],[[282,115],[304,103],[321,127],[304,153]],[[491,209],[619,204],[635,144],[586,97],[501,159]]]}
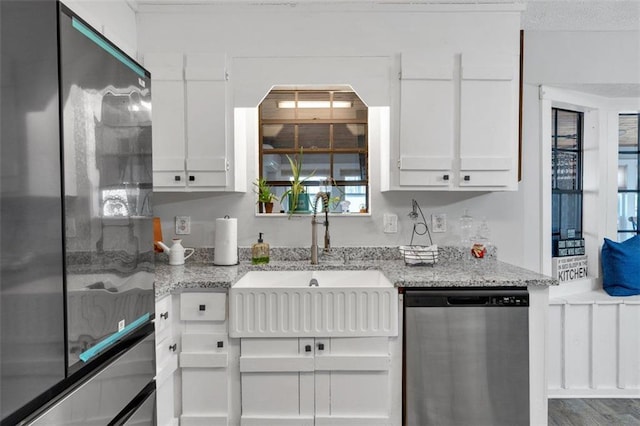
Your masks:
{"label": "bright blue throw pillow on the white window bench", "polygon": [[611,296],[640,294],[640,235],[622,243],[604,239],[602,287]]}

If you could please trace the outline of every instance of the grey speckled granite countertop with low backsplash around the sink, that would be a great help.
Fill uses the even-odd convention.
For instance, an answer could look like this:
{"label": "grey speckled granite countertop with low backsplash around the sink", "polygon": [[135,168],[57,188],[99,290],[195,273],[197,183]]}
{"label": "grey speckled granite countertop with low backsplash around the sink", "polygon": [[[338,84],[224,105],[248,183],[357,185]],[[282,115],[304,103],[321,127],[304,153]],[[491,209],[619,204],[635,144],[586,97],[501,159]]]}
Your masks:
{"label": "grey speckled granite countertop with low backsplash around the sink", "polygon": [[169,266],[166,258],[156,258],[156,298],[188,289],[229,288],[246,272],[257,270],[377,269],[396,287],[558,285],[554,278],[496,260],[495,251],[485,259],[468,259],[457,248],[442,247],[435,265],[407,266],[397,247],[350,247],[331,249],[330,255],[320,257],[318,265],[311,265],[308,248],[272,248],[268,264],[252,265],[250,254],[240,249],[238,265],[215,266],[210,260],[213,259],[212,254],[207,250],[211,249],[199,250],[182,266]]}

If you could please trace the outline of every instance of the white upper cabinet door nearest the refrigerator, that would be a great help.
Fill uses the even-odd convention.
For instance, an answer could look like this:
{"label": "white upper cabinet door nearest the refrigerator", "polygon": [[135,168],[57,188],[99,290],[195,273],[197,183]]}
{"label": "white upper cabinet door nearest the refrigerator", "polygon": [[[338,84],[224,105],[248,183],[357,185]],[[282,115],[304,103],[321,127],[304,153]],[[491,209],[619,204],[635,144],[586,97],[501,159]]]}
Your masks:
{"label": "white upper cabinet door nearest the refrigerator", "polygon": [[144,57],[144,64],[151,72],[154,189],[184,189],[183,57],[179,53],[149,53]]}

